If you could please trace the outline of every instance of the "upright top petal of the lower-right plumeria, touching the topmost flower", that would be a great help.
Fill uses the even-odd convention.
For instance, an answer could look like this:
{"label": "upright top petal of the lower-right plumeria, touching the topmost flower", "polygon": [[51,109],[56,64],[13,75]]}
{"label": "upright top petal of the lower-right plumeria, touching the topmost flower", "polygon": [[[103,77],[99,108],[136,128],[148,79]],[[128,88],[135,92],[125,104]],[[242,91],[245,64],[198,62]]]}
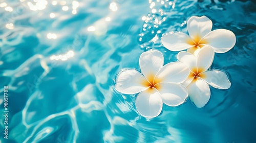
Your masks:
{"label": "upright top petal of the lower-right plumeria, touching the topmost flower", "polygon": [[214,49],[209,45],[202,47],[197,56],[198,74],[203,73],[211,66],[214,61],[214,54]]}

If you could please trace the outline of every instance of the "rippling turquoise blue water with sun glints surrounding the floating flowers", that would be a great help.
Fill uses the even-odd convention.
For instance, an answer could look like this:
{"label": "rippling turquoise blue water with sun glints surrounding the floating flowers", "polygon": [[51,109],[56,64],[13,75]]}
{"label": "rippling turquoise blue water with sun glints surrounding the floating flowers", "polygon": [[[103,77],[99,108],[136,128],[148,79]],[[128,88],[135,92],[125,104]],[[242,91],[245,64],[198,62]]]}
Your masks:
{"label": "rippling turquoise blue water with sun glints surrounding the floating flowers", "polygon": [[[36,2],[39,7],[33,7]],[[254,142],[255,2],[52,2],[0,3],[0,142]],[[177,52],[166,50],[160,37],[187,32],[185,20],[194,15],[209,17],[212,29],[236,34],[234,48],[216,54],[211,67],[228,73],[231,87],[210,88],[204,108],[189,100],[164,105],[147,120],[136,111],[135,95],[115,91],[114,79],[121,69],[139,69],[139,56],[149,49],[161,51],[165,64],[177,61]],[[74,56],[51,60],[68,51]]]}

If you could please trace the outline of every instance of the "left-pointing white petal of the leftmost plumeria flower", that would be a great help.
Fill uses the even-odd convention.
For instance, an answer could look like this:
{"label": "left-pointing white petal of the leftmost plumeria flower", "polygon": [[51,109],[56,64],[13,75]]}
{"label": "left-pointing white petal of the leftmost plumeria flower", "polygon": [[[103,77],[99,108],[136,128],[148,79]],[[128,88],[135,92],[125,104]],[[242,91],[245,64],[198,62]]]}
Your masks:
{"label": "left-pointing white petal of the leftmost plumeria flower", "polygon": [[116,78],[115,88],[124,94],[135,94],[147,89],[146,79],[134,69],[122,71]]}

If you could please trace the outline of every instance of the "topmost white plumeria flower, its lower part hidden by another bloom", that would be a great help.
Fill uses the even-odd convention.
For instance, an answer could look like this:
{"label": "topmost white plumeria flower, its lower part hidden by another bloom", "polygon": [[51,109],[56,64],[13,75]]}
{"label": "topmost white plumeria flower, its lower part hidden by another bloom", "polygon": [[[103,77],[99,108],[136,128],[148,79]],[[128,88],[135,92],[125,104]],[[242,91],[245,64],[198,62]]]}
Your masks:
{"label": "topmost white plumeria flower, its lower part hidden by another bloom", "polygon": [[187,20],[188,34],[177,32],[161,38],[164,47],[170,51],[186,50],[189,53],[210,45],[216,53],[225,53],[236,44],[236,36],[226,29],[211,31],[212,22],[206,17],[192,16]]}

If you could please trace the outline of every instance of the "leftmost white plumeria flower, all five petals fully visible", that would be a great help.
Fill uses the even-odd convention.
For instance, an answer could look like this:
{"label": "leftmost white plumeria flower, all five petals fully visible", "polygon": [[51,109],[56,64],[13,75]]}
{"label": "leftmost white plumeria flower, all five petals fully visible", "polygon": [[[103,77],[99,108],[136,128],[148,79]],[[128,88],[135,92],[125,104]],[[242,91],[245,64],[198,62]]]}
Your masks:
{"label": "leftmost white plumeria flower, all five petals fully visible", "polygon": [[140,55],[141,74],[135,69],[122,71],[116,79],[115,88],[124,94],[139,93],[136,108],[144,117],[158,116],[163,103],[178,106],[188,97],[188,91],[181,85],[189,75],[188,67],[181,62],[163,66],[163,55],[159,51],[148,51]]}

